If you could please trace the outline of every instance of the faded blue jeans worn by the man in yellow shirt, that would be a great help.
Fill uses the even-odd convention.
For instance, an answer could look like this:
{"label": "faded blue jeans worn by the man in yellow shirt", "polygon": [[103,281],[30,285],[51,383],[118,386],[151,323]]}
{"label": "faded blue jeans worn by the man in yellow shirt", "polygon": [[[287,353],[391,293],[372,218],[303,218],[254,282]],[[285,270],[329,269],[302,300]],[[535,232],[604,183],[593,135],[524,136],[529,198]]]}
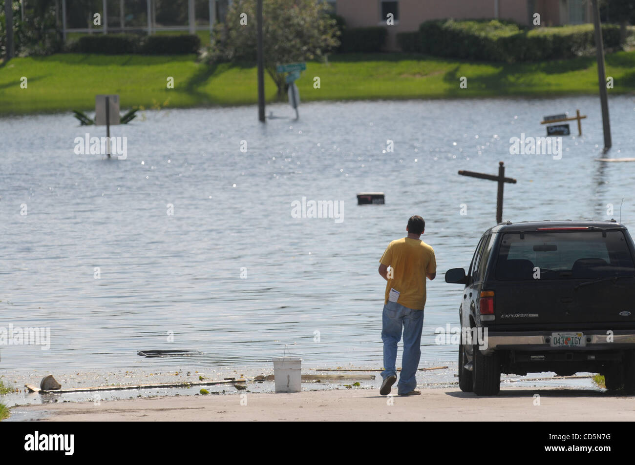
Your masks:
{"label": "faded blue jeans worn by the man in yellow shirt", "polygon": [[382,317],[382,341],[384,341],[384,371],[382,378],[397,376],[397,344],[403,328],[403,358],[398,394],[406,394],[417,387],[417,368],[421,358],[421,331],[424,327],[424,311],[412,310],[396,302],[384,305]]}

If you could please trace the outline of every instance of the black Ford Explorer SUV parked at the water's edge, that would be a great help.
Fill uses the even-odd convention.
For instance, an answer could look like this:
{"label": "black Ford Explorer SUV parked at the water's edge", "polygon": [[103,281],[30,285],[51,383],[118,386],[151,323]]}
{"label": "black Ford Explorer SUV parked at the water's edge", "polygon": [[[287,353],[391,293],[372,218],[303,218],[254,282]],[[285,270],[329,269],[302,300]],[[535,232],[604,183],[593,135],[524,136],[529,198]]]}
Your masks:
{"label": "black Ford Explorer SUV parked at the water's edge", "polygon": [[635,244],[611,221],[500,223],[476,247],[459,309],[462,391],[495,395],[500,374],[598,372],[635,394]]}

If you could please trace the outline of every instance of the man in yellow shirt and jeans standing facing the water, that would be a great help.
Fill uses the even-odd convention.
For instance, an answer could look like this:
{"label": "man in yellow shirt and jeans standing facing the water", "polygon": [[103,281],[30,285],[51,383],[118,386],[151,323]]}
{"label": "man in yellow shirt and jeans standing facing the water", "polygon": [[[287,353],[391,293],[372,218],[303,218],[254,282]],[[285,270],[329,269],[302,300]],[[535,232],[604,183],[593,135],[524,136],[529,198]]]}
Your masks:
{"label": "man in yellow shirt and jeans standing facing the water", "polygon": [[[425,221],[418,215],[408,219],[408,236],[393,240],[380,259],[379,274],[387,280],[382,316],[384,371],[382,396],[391,393],[397,381],[397,344],[403,329],[403,358],[397,393],[418,395],[417,367],[421,357],[421,332],[424,326],[425,278],[436,277],[434,250],[419,237]],[[389,268],[390,267],[390,268]]]}

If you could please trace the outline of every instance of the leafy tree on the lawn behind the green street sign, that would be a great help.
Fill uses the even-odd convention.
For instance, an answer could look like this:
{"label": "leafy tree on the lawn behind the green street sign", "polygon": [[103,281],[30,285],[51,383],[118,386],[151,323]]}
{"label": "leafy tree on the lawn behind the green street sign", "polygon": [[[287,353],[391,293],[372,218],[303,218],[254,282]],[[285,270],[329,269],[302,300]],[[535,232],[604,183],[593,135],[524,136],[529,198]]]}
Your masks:
{"label": "leafy tree on the lawn behind the green street sign", "polygon": [[[317,0],[263,0],[265,69],[276,82],[278,96],[286,90],[282,63],[314,60],[339,45],[328,4]],[[234,0],[219,25],[217,54],[229,60],[256,60],[256,0]]]}

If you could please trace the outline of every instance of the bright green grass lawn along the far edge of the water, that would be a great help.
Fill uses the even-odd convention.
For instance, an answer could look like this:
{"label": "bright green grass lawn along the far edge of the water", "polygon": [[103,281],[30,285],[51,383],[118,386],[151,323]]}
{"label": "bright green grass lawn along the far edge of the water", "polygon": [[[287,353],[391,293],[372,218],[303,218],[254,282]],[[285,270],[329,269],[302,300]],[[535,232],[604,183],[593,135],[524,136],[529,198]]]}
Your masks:
{"label": "bright green grass lawn along the far edge of the water", "polygon": [[[635,92],[635,51],[606,56],[610,93]],[[20,78],[28,88],[20,88]],[[166,88],[168,76],[175,88]],[[313,87],[314,77],[321,88]],[[467,89],[460,89],[460,77]],[[297,81],[303,102],[404,98],[475,98],[596,94],[594,58],[544,63],[482,63],[406,53],[332,55],[309,62]],[[269,102],[276,88],[265,74]],[[257,102],[256,68],[222,63],[208,67],[194,55],[57,54],[14,58],[0,66],[0,114],[91,110],[95,95],[119,94],[121,107],[197,107]],[[286,100],[286,96],[284,96]]]}

